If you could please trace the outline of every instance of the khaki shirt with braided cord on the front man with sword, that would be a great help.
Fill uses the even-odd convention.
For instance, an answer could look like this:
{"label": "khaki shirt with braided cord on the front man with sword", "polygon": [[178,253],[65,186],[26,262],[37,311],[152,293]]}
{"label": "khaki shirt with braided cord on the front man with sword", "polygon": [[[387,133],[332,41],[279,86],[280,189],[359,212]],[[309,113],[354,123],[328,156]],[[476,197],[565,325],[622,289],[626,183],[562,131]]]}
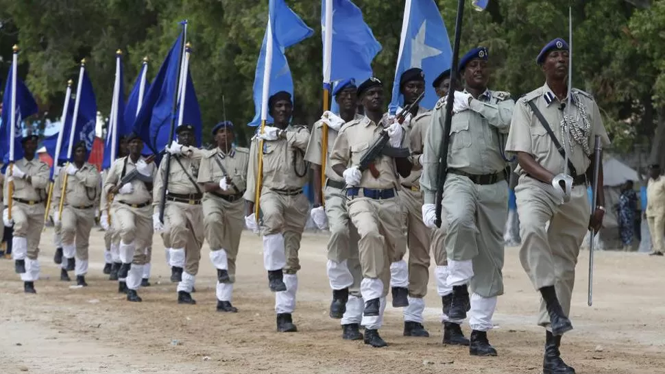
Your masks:
{"label": "khaki shirt with braided cord on the front man with sword", "polygon": [[[609,138],[607,137],[607,132],[605,132],[601,112],[598,110],[596,101],[594,101],[593,97],[586,92],[577,90],[576,88],[573,88],[573,90],[579,94],[577,97],[581,100],[581,105],[585,108],[586,116],[591,123],[587,135],[589,149],[593,153],[594,138],[596,135],[601,136],[601,144],[603,147],[607,147],[609,145]],[[548,125],[552,128],[552,132],[557,136],[559,143],[564,145],[564,142],[561,141],[560,123],[564,114],[564,112],[560,110],[561,102],[557,99],[556,95],[554,95],[547,84],[545,84],[518,100],[516,108],[513,111],[513,119],[506,144],[506,151],[529,153],[530,155],[533,155],[533,158],[535,158],[535,161],[540,164],[540,166],[547,169],[550,173],[553,173],[554,175],[563,173],[564,167],[566,167],[566,162],[555,147],[552,138],[547,134],[545,127],[543,127],[542,123],[538,121],[531,111],[531,108],[529,108],[529,105],[527,104],[529,101],[533,101],[536,108],[540,110]],[[566,102],[566,99],[564,99],[563,102]],[[580,114],[574,101],[571,102],[570,106],[572,107],[570,108],[570,114],[574,117],[579,116]],[[581,123],[581,119],[579,120],[579,123]],[[573,140],[572,136],[570,138],[570,143],[568,144],[567,153],[568,160],[570,160],[572,165],[575,166],[577,174],[582,175],[585,173],[591,164],[590,156],[584,153],[581,145]],[[515,172],[519,175],[525,174],[519,164]],[[568,171],[568,174],[570,174],[570,171]]]}

